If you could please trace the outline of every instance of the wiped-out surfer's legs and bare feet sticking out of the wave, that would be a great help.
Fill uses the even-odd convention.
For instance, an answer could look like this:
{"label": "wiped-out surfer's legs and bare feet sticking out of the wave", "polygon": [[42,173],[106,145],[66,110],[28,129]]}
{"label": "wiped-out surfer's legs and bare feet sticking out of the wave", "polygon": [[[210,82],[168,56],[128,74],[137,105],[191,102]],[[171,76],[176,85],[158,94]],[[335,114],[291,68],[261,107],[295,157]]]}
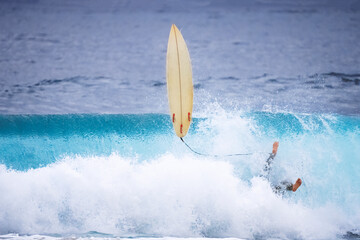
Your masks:
{"label": "wiped-out surfer's legs and bare feet sticking out of the wave", "polygon": [[[264,167],[264,172],[266,173],[265,175],[266,179],[269,179],[271,164],[276,156],[278,147],[279,147],[279,142],[274,142],[272,153],[270,153],[269,158],[266,160],[266,164]],[[279,185],[274,186],[273,189],[276,193],[283,193],[285,190],[295,192],[300,187],[301,183],[302,181],[300,178],[298,178],[294,184],[291,183],[290,181],[282,181]]]}

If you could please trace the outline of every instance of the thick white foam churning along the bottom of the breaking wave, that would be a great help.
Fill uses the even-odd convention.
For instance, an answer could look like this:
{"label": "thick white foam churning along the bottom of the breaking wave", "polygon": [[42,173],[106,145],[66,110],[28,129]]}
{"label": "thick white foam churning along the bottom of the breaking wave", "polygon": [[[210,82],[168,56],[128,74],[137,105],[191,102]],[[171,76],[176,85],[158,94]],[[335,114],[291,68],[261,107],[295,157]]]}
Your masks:
{"label": "thick white foam churning along the bottom of the breaking wave", "polygon": [[348,222],[250,183],[233,165],[171,154],[138,163],[116,154],[64,158],[44,168],[0,168],[0,233],[325,239]]}

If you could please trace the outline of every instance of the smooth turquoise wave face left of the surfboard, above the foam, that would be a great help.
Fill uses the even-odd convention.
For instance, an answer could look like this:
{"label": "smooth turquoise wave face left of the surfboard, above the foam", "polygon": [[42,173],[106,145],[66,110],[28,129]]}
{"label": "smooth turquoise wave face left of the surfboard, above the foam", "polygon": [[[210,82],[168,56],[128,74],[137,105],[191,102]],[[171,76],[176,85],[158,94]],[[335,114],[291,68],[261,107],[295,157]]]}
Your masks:
{"label": "smooth turquoise wave face left of the surfboard, above the foam", "polygon": [[[1,116],[1,161],[27,170],[67,155],[136,154],[166,150],[156,139],[171,136],[165,115],[13,115]],[[154,142],[155,141],[155,142]]]}

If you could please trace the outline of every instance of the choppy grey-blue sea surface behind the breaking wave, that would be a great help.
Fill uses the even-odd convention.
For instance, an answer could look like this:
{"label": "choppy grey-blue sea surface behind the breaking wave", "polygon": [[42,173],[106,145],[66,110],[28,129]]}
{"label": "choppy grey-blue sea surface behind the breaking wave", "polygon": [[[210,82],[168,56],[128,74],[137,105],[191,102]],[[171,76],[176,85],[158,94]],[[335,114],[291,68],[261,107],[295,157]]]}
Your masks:
{"label": "choppy grey-blue sea surface behind the breaking wave", "polygon": [[[177,24],[195,108],[359,114],[358,1],[1,1],[1,113],[167,113]],[[145,100],[145,101],[144,101]]]}

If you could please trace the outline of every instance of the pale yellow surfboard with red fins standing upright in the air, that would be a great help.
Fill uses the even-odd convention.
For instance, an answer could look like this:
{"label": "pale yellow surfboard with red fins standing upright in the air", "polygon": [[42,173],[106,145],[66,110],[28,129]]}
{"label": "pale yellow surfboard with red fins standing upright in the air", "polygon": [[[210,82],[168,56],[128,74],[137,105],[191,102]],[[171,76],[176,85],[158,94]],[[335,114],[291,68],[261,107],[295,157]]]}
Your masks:
{"label": "pale yellow surfboard with red fins standing upright in the air", "polygon": [[190,127],[193,107],[193,83],[189,51],[179,29],[170,30],[166,55],[166,81],[171,121],[178,137]]}

